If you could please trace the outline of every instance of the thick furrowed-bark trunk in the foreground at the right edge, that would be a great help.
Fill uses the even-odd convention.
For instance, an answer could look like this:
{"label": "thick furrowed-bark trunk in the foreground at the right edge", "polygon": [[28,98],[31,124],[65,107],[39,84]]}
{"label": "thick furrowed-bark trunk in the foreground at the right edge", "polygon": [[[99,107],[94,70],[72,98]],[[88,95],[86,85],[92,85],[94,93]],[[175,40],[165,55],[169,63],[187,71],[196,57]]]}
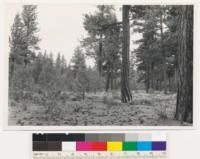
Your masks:
{"label": "thick furrowed-bark trunk in the foreground at the right edge", "polygon": [[193,6],[182,6],[178,30],[178,93],[175,118],[193,122]]}

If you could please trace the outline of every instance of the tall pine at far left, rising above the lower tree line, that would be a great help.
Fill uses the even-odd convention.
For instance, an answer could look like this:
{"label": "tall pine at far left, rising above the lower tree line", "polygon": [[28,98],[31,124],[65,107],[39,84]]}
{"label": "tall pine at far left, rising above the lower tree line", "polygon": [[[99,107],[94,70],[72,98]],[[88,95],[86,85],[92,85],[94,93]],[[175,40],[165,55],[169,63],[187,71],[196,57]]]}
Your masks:
{"label": "tall pine at far left, rising above the lower tree line", "polygon": [[[27,90],[31,89],[33,81],[38,82],[38,77],[35,74],[37,68],[34,65],[35,50],[38,49],[39,42],[36,35],[38,31],[36,8],[35,5],[24,5],[22,13],[16,14],[11,28],[9,38],[10,88],[14,84],[16,88],[20,87],[20,89]],[[33,65],[28,65],[29,63]]]}

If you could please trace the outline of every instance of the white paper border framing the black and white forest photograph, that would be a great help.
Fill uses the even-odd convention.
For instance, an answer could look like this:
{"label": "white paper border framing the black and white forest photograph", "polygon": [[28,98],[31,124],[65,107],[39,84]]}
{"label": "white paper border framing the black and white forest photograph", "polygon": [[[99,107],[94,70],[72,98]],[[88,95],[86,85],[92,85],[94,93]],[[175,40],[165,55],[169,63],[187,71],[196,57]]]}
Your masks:
{"label": "white paper border framing the black and white forest photograph", "polygon": [[[193,5],[194,6],[194,32],[193,32],[193,125],[192,126],[10,126],[8,125],[8,56],[9,48],[5,47],[8,43],[8,34],[5,31],[6,24],[6,5],[20,3],[20,4],[135,4],[135,5]],[[200,3],[198,0],[5,0],[3,3],[3,10],[1,14],[1,34],[0,38],[0,98],[2,106],[3,129],[4,130],[36,130],[36,131],[49,131],[49,130],[64,130],[64,131],[135,131],[135,130],[195,130],[197,129],[200,121]]]}

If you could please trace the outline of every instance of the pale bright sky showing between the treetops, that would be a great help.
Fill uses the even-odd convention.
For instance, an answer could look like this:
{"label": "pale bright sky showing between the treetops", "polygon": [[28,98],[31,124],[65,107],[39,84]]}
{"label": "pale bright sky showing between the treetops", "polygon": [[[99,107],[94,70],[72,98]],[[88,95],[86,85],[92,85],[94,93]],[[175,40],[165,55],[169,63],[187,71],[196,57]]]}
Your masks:
{"label": "pale bright sky showing between the treetops", "polygon": [[[7,6],[7,34],[10,35],[10,27],[13,24],[14,16],[17,12],[21,13],[22,5],[10,4]],[[122,19],[121,6],[115,6],[117,18]],[[47,49],[47,52],[53,53],[54,59],[60,52],[64,55],[69,64],[74,49],[80,44],[79,40],[86,36],[83,27],[83,15],[96,11],[96,5],[75,5],[75,4],[39,4],[37,7],[39,42],[41,51]],[[138,39],[140,36],[136,33],[132,34],[131,40]],[[9,46],[7,46],[9,47]],[[131,48],[135,48],[131,42]],[[132,49],[131,49],[132,50]],[[91,59],[87,59],[87,65],[93,65]]]}

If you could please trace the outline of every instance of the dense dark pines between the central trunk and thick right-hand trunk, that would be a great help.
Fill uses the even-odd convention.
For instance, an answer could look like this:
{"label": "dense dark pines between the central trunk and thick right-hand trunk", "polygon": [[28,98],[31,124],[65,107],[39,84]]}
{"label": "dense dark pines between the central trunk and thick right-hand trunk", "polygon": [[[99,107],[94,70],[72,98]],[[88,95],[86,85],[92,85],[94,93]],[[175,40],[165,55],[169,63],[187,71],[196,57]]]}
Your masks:
{"label": "dense dark pines between the central trunk and thick right-hand trunk", "polygon": [[175,90],[175,80],[171,81],[175,76],[177,52],[174,10],[174,6],[134,6],[132,9],[134,31],[142,33],[135,50],[138,70],[142,72],[139,80],[145,83],[147,92],[156,89],[166,93],[172,82]]}

